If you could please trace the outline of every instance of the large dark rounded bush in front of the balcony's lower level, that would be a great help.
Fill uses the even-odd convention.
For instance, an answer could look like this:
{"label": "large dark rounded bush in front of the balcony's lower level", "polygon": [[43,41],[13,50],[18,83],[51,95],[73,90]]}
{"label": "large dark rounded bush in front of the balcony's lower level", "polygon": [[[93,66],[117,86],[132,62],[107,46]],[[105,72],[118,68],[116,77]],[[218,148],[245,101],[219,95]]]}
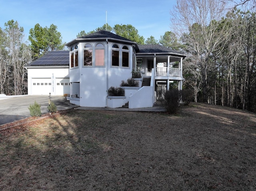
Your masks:
{"label": "large dark rounded bush in front of the balcony's lower level", "polygon": [[164,100],[161,101],[162,106],[170,114],[177,113],[180,106],[180,91],[171,89],[164,92]]}

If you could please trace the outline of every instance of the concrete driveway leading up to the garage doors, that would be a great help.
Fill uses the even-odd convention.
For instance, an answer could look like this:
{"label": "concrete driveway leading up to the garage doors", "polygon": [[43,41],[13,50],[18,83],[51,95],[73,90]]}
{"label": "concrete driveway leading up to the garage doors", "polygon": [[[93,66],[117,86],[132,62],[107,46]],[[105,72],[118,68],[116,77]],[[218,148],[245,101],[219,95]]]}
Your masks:
{"label": "concrete driveway leading up to the garage doors", "polygon": [[[52,101],[57,106],[57,110],[65,110],[74,107],[73,104],[66,102],[64,96],[51,96]],[[34,102],[41,104],[42,114],[46,114],[49,110],[48,95],[25,95],[25,96],[4,96],[0,95],[0,125],[28,118],[30,112],[29,105]]]}

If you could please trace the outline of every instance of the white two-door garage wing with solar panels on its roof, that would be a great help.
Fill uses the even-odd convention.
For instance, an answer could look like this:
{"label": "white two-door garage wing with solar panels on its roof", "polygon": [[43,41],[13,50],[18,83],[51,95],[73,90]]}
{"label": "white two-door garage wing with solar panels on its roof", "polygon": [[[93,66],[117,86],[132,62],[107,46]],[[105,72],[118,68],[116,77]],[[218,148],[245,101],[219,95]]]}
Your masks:
{"label": "white two-door garage wing with solar panels on its roof", "polygon": [[70,93],[69,51],[50,51],[25,68],[28,70],[28,95]]}

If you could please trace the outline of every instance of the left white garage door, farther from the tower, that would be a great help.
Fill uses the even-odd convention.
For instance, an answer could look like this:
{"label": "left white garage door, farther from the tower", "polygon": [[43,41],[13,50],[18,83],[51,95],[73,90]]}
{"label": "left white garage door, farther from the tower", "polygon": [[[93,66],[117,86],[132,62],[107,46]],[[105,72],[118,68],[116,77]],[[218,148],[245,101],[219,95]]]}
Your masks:
{"label": "left white garage door, farther from the tower", "polygon": [[51,87],[50,78],[32,78],[32,95],[49,95]]}

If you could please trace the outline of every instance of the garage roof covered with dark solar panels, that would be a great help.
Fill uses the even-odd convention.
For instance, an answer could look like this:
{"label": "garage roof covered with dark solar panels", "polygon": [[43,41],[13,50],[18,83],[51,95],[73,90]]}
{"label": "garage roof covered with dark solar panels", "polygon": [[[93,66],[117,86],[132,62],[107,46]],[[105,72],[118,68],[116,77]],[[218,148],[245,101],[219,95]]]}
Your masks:
{"label": "garage roof covered with dark solar panels", "polygon": [[33,66],[69,66],[69,51],[50,51],[26,67]]}

